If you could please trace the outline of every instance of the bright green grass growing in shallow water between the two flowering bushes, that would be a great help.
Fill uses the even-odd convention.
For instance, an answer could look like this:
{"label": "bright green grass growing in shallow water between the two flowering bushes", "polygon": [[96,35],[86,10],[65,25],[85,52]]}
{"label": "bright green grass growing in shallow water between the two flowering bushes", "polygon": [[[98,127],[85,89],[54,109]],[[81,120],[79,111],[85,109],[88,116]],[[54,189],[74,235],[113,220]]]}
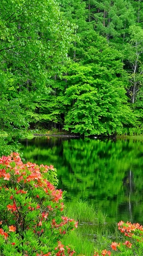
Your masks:
{"label": "bright green grass growing in shallow water between the two flowering bushes", "polygon": [[65,202],[64,214],[79,222],[78,229],[62,240],[74,248],[76,256],[93,256],[94,251],[111,250],[110,244],[121,239],[117,225],[107,224],[105,214],[86,201]]}

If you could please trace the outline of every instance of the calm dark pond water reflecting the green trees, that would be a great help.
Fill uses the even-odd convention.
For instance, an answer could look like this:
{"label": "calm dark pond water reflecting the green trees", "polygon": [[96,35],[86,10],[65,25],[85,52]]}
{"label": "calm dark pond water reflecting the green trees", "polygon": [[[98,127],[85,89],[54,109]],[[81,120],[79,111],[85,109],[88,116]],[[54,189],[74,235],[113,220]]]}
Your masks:
{"label": "calm dark pond water reflecting the green trees", "polygon": [[66,200],[87,200],[119,220],[143,224],[143,142],[40,137],[21,140],[25,162],[54,165]]}

